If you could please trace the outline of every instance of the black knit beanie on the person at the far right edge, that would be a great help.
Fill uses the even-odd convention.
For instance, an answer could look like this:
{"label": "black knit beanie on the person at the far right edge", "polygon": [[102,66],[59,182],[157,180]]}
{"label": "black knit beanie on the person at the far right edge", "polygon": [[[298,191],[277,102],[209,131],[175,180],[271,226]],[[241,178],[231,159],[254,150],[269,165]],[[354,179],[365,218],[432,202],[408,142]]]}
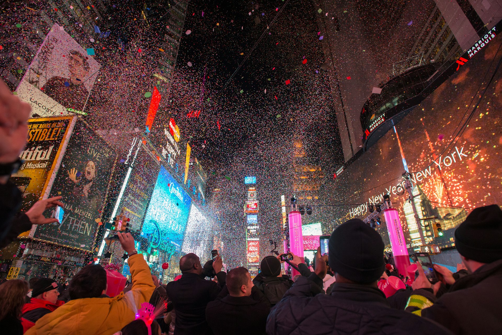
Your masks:
{"label": "black knit beanie on the person at the far right edge", "polygon": [[481,263],[502,259],[502,210],[498,205],[473,209],[455,231],[460,255]]}

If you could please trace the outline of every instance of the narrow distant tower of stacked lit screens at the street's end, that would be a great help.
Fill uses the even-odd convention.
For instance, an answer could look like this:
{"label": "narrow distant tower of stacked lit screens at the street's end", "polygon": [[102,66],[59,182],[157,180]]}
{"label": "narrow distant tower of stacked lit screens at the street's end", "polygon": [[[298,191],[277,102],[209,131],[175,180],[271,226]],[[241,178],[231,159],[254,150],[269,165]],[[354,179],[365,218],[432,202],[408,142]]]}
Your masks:
{"label": "narrow distant tower of stacked lit screens at the street's end", "polygon": [[260,265],[260,238],[258,236],[258,192],[256,190],[256,177],[244,177],[247,186],[247,196],[244,207],[246,217],[246,261],[251,277],[258,274]]}

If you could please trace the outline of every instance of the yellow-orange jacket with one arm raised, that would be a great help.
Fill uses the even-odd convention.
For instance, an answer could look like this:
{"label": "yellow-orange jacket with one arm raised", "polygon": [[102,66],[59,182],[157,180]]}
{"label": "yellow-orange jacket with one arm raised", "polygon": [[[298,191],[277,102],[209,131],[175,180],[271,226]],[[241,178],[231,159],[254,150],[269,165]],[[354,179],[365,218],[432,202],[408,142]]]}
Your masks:
{"label": "yellow-orange jacket with one arm raised", "polygon": [[135,319],[136,310],[148,302],[155,285],[143,255],[128,260],[133,287],[113,298],[70,300],[41,317],[25,335],[111,335]]}

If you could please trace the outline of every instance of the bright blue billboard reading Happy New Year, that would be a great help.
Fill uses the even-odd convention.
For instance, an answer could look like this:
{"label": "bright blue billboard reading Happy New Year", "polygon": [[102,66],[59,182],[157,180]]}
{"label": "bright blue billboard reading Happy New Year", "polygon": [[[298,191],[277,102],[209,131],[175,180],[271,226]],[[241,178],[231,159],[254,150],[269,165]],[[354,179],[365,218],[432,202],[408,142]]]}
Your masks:
{"label": "bright blue billboard reading Happy New Year", "polygon": [[157,249],[172,254],[181,250],[191,201],[188,193],[161,167],[141,233],[150,242],[149,252]]}

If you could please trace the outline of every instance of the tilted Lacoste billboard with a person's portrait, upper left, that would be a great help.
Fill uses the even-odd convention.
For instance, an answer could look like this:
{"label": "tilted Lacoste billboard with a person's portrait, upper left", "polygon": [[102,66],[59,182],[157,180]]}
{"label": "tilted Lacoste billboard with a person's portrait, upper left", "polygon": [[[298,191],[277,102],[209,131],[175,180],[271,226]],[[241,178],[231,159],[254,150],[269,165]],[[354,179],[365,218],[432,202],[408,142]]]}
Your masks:
{"label": "tilted Lacoste billboard with a person's portrait, upper left", "polygon": [[32,105],[32,113],[60,115],[61,106],[84,109],[100,68],[88,54],[93,49],[88,50],[92,52],[82,48],[63,27],[52,26],[18,87],[19,97]]}

